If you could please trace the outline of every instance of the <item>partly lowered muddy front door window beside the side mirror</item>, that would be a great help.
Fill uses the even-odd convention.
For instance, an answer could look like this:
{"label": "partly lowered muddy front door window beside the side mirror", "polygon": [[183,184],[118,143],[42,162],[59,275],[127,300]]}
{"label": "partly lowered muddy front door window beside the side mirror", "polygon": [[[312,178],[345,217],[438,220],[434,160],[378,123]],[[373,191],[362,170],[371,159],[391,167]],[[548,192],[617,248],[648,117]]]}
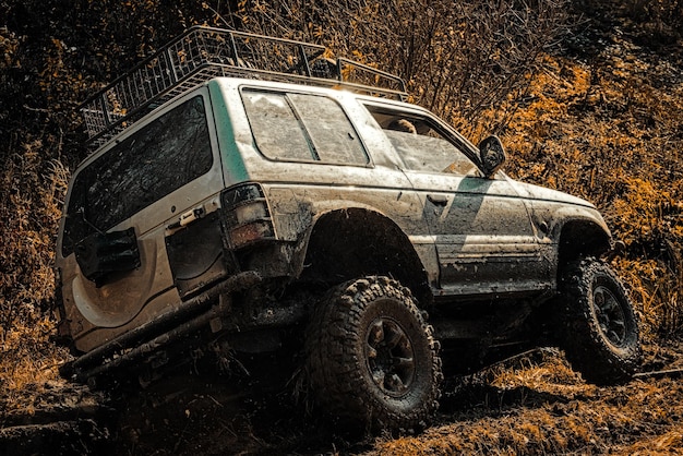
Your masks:
{"label": "partly lowered muddy front door window beside the side mirror", "polygon": [[367,106],[406,169],[476,176],[477,166],[450,141],[433,119]]}

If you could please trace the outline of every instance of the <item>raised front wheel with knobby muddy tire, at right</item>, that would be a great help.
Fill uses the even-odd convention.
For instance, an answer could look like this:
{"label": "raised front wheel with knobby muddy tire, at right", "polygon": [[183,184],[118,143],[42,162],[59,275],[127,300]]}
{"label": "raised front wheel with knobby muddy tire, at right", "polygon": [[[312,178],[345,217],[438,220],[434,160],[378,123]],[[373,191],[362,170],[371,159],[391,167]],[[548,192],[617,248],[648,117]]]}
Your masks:
{"label": "raised front wheel with knobby muddy tire, at right", "polygon": [[567,265],[561,280],[567,360],[590,383],[630,380],[640,364],[638,325],[612,269],[595,259]]}

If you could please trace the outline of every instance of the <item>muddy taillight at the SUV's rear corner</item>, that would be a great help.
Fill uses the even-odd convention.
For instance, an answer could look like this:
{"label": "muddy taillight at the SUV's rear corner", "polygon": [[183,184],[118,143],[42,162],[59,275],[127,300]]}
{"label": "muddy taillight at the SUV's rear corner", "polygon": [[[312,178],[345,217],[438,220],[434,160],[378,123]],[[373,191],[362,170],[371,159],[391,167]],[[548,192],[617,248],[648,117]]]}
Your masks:
{"label": "muddy taillight at the SUV's rear corner", "polygon": [[275,239],[268,203],[261,185],[233,187],[220,195],[228,242],[232,249],[261,240]]}

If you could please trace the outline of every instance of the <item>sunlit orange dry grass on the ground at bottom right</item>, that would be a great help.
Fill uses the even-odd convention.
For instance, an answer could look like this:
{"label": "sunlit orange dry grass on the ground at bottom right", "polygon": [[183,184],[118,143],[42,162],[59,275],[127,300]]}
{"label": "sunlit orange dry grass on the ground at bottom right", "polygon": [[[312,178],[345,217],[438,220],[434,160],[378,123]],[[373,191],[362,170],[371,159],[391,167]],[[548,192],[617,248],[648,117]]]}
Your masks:
{"label": "sunlit orange dry grass on the ground at bottom right", "polygon": [[[585,384],[564,358],[487,373],[500,405],[470,405],[416,437],[380,439],[366,455],[680,454],[683,386],[671,379],[600,388]],[[492,380],[490,380],[492,379]],[[471,385],[469,385],[471,388]],[[505,399],[511,396],[511,399]]]}

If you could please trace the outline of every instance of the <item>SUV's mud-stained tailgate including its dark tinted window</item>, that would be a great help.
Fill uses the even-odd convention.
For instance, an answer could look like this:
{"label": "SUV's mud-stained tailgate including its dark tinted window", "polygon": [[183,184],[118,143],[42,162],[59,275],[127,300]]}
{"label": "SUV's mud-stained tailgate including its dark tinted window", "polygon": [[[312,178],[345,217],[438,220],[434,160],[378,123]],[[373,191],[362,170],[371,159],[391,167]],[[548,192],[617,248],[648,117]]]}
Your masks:
{"label": "SUV's mud-stained tailgate including its dark tinted window", "polygon": [[[89,159],[71,184],[58,266],[77,347],[79,334],[122,327],[134,319],[144,323],[177,304],[166,255],[168,226],[223,188],[207,93],[197,91],[155,117]],[[136,238],[139,266],[87,279],[75,259],[79,243],[94,233],[129,228]]]}

